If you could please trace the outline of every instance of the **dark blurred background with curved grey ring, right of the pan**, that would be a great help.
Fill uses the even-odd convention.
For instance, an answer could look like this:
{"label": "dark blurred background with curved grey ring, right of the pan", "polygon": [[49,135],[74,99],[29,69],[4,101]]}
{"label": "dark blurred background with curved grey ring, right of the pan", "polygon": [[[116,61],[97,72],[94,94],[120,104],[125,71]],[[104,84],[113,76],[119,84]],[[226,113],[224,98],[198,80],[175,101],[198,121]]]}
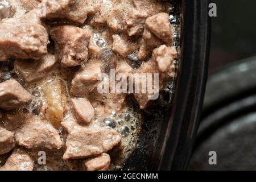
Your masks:
{"label": "dark blurred background with curved grey ring, right of the pan", "polygon": [[256,170],[256,1],[212,2],[209,78],[189,169]]}

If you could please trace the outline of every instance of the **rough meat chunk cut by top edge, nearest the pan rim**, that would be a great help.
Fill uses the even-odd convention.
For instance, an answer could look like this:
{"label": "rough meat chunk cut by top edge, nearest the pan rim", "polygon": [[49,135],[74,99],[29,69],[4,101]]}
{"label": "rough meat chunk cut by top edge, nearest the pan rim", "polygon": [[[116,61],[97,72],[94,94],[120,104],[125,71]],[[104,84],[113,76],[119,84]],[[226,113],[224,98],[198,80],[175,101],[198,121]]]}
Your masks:
{"label": "rough meat chunk cut by top edge, nearest the pan rim", "polygon": [[148,17],[167,12],[168,6],[156,0],[123,0],[110,9],[107,23],[115,32],[126,32],[129,36],[142,35]]}

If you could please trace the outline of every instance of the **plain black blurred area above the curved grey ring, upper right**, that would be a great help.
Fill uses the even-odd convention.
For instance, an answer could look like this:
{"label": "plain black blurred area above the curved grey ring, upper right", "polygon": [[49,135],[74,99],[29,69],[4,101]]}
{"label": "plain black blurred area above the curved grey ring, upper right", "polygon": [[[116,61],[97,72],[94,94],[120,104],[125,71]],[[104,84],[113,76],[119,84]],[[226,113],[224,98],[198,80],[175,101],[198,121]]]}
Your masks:
{"label": "plain black blurred area above the curved grey ring, upper right", "polygon": [[212,18],[209,73],[256,55],[256,1],[218,0]]}

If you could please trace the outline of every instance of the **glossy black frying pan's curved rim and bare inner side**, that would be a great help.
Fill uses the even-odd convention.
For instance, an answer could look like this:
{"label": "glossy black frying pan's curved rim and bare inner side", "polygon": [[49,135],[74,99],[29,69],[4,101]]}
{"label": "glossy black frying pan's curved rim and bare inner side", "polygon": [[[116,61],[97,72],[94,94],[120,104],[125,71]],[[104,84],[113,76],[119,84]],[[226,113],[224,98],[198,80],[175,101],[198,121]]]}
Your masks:
{"label": "glossy black frying pan's curved rim and bare inner side", "polygon": [[124,170],[184,170],[191,156],[207,80],[209,1],[171,3],[180,7],[181,26],[181,49],[172,102],[167,107],[145,113],[137,147]]}

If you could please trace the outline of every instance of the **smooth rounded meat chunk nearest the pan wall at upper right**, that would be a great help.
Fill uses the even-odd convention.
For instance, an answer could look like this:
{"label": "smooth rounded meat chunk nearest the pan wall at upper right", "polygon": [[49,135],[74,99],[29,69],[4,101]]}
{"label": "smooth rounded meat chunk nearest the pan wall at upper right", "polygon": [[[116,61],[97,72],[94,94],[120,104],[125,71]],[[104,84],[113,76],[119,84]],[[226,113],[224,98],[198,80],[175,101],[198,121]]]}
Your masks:
{"label": "smooth rounded meat chunk nearest the pan wall at upper right", "polygon": [[157,38],[163,40],[163,42],[167,44],[172,43],[174,28],[169,22],[169,15],[167,13],[159,13],[151,16],[150,18],[147,18],[146,28],[151,31]]}

